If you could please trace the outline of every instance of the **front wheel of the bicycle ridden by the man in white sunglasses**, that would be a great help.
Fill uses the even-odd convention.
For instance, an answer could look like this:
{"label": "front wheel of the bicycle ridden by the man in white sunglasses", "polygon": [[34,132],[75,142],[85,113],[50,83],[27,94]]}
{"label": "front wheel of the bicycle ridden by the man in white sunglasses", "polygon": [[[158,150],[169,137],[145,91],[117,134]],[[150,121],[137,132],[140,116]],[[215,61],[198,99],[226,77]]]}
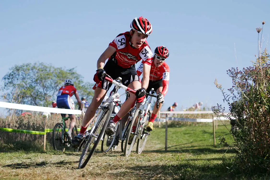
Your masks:
{"label": "front wheel of the bicycle ridden by the man in white sunglasses", "polygon": [[[137,109],[134,113],[134,116],[131,120],[131,123],[130,123],[130,126],[129,126],[129,129],[127,130],[127,136],[126,136],[126,140],[125,140],[125,148],[124,148],[124,155],[126,157],[128,157],[130,155],[130,152],[134,146],[134,143],[136,141],[136,138],[138,136],[137,134],[137,129],[138,127],[136,128],[135,132],[131,132],[132,131],[132,126],[133,124],[135,123],[135,121],[140,121],[140,117],[141,117],[141,110],[140,109]],[[132,141],[130,140],[130,144],[128,143],[129,142],[129,138],[130,138],[130,134],[134,134],[134,137],[132,138]]]}

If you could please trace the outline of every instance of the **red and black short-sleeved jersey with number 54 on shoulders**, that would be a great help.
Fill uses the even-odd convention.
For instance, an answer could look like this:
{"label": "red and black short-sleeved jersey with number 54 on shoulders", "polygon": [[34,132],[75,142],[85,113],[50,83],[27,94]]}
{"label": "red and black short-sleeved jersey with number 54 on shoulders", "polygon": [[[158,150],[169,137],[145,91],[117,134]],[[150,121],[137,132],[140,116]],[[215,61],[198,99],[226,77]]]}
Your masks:
{"label": "red and black short-sleeved jersey with number 54 on shoulders", "polygon": [[142,63],[151,65],[151,57],[153,55],[147,41],[145,41],[139,49],[132,46],[130,32],[119,34],[114,38],[113,42],[109,44],[116,49],[116,52],[109,58],[112,59],[117,65],[128,68],[141,59]]}

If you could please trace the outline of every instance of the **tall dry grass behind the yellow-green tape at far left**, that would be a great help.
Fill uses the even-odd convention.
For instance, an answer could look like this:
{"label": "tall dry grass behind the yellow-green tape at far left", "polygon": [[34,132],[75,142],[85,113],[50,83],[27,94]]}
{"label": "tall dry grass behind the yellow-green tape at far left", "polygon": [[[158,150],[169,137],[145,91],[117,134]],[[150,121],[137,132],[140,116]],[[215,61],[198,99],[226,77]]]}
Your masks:
{"label": "tall dry grass behind the yellow-green tape at far left", "polygon": [[[0,127],[2,128],[12,128],[19,130],[31,130],[31,131],[42,131],[44,132],[44,117],[39,114],[26,116],[6,116],[0,117]],[[61,122],[60,114],[52,114],[46,120],[46,129],[53,128],[56,123]],[[69,127],[69,120],[66,121],[67,127]],[[81,118],[76,124],[81,123]],[[9,133],[5,131],[0,131],[0,151],[10,151],[10,150],[40,150],[43,147],[43,135],[34,134],[23,134],[23,133]],[[47,133],[46,135],[46,148],[48,150],[52,149],[52,133]]]}

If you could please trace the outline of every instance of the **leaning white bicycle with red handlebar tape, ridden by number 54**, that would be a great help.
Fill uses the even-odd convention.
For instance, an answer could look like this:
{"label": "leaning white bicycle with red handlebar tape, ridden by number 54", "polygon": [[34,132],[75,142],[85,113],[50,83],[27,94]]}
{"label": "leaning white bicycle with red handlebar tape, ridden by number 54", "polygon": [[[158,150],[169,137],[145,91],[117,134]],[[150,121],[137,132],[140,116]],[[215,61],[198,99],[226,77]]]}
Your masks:
{"label": "leaning white bicycle with red handlebar tape, ridden by number 54", "polygon": [[[113,83],[115,85],[115,88],[112,94],[109,96],[109,98],[99,107],[96,116],[93,118],[92,122],[89,124],[89,125],[92,125],[92,123],[95,122],[92,128],[86,131],[85,140],[80,146],[80,147],[84,146],[84,149],[80,157],[79,166],[78,166],[79,169],[84,168],[86,166],[87,162],[89,161],[94,151],[96,150],[96,147],[99,144],[99,141],[102,140],[103,138],[104,132],[107,128],[107,125],[112,115],[112,111],[114,107],[113,100],[116,98],[117,91],[120,88],[123,88],[124,90],[129,91],[133,94],[136,93],[135,90],[132,90],[129,87],[124,86],[121,83],[122,78],[120,77],[118,77],[116,80],[113,80],[107,74],[107,77],[105,77],[105,80],[109,81],[110,83]],[[97,86],[98,84],[96,84],[93,87],[93,89],[95,89]]]}

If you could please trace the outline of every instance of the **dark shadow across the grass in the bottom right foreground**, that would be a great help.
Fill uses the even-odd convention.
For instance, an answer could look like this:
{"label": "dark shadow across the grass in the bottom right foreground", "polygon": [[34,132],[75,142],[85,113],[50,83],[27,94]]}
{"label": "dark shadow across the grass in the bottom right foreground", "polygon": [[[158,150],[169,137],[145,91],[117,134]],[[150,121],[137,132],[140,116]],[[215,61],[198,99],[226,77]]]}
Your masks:
{"label": "dark shadow across the grass in the bottom right foreground", "polygon": [[[206,161],[221,160],[220,158],[203,159]],[[194,160],[195,161],[195,160]],[[111,178],[125,177],[134,179],[231,179],[228,174],[227,164],[194,163],[194,161],[182,161],[181,164],[148,164],[126,167],[125,171],[115,172]],[[189,169],[189,170],[187,170]]]}

